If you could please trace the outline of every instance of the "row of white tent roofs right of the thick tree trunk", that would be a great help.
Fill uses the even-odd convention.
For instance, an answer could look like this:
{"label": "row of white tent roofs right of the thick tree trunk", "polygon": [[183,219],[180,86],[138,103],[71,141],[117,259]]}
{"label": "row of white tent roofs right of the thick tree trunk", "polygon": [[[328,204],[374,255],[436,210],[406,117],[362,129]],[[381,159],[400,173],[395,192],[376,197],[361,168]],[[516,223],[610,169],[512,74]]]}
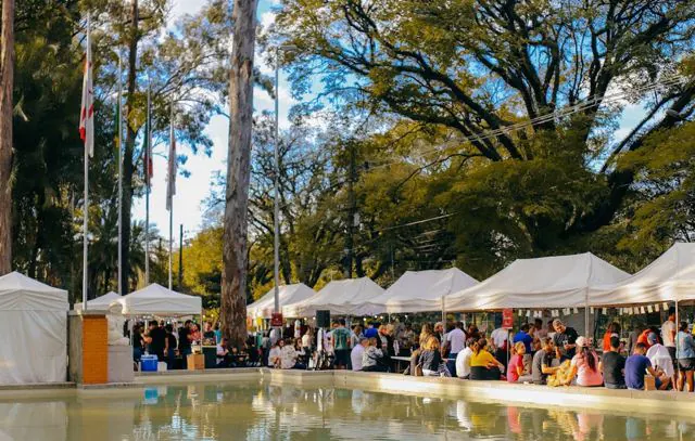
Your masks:
{"label": "row of white tent roofs right of the thick tree trunk", "polygon": [[[274,289],[247,314],[269,317]],[[377,315],[431,311],[498,311],[621,307],[695,300],[695,244],[678,243],[634,275],[591,252],[518,259],[478,283],[458,269],[408,271],[389,289],[368,277],[334,281],[318,293],[303,284],[280,288],[286,317]]]}

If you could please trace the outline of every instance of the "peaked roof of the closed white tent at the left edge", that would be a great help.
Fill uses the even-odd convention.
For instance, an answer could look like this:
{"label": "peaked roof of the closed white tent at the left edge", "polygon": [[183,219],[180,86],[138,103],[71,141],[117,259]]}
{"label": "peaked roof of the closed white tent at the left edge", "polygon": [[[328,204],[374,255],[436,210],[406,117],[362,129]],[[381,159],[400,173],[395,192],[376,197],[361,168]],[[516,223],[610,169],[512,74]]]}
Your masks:
{"label": "peaked roof of the closed white tent at the left edge", "polygon": [[0,277],[0,310],[67,311],[67,291],[16,271]]}

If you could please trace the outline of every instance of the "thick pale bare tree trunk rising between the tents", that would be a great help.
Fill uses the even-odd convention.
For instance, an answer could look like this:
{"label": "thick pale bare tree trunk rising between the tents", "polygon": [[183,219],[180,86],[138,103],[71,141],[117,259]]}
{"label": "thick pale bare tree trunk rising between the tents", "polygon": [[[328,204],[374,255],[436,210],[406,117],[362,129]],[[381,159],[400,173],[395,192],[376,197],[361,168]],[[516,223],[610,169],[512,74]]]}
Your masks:
{"label": "thick pale bare tree trunk rising between the tents", "polygon": [[256,0],[235,1],[232,18],[235,29],[229,76],[229,153],[220,317],[225,336],[239,345],[247,338],[247,233]]}

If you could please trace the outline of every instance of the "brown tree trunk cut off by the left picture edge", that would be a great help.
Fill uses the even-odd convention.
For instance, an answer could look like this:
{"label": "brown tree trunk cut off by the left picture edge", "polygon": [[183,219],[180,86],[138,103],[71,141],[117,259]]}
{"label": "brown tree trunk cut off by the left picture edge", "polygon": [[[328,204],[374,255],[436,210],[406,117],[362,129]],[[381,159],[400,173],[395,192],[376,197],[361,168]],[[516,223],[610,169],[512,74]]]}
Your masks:
{"label": "brown tree trunk cut off by the left picture edge", "polygon": [[0,275],[12,271],[12,89],[14,0],[2,0],[0,35]]}

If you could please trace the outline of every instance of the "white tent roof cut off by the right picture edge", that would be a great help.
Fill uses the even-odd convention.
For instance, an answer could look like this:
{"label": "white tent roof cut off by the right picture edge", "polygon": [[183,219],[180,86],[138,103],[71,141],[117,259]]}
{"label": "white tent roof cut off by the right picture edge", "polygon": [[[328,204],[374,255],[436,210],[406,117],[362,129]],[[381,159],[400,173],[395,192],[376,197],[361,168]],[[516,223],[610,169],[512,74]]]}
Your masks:
{"label": "white tent roof cut off by the right picture edge", "polygon": [[695,244],[677,243],[642,271],[589,295],[594,306],[695,300]]}

